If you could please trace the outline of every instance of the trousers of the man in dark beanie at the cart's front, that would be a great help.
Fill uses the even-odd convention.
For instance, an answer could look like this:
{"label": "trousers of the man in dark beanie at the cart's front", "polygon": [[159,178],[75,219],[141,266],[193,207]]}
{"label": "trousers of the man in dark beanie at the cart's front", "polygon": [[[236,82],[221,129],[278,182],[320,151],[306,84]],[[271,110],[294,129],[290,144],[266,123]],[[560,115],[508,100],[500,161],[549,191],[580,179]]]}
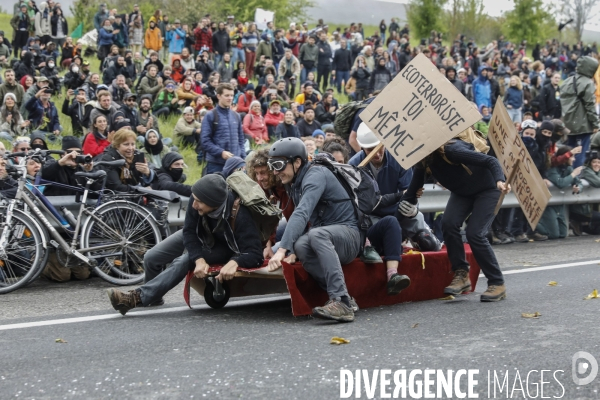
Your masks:
{"label": "trousers of the man in dark beanie at the cart's front", "polygon": [[[140,287],[142,304],[147,306],[160,300],[169,290],[179,285],[188,271],[190,262],[183,254],[183,230],[177,231],[144,255],[144,285]],[[165,264],[171,266],[163,271]]]}

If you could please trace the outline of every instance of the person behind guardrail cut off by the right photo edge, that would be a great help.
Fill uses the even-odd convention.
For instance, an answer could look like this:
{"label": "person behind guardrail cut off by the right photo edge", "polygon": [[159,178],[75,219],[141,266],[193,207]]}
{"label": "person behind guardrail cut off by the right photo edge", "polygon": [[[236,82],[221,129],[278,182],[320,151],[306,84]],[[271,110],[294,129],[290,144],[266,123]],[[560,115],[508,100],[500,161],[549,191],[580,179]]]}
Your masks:
{"label": "person behind guardrail cut off by the right photo edge", "polygon": [[[600,156],[593,151],[588,155],[586,165],[581,171],[581,179],[585,179],[591,187],[600,188]],[[592,204],[573,204],[571,211],[571,228],[579,236],[582,232],[600,235],[600,212],[593,209]]]}

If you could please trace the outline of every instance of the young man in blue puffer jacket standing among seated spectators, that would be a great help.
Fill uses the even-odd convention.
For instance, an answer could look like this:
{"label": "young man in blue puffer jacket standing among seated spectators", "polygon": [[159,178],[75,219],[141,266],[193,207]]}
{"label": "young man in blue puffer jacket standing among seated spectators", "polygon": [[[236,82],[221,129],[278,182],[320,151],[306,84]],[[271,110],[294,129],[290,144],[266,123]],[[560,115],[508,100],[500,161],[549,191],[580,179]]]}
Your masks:
{"label": "young man in blue puffer jacket standing among seated spectators", "polygon": [[246,158],[240,116],[231,109],[234,88],[230,83],[217,87],[217,106],[202,120],[200,141],[206,154],[206,174],[221,172],[231,157]]}

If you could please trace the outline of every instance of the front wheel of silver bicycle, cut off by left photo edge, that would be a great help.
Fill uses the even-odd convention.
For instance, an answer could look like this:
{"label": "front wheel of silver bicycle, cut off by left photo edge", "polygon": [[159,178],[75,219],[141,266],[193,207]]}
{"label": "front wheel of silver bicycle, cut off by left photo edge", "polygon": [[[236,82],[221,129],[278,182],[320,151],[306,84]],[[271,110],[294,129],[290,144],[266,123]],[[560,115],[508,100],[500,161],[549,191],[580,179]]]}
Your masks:
{"label": "front wheel of silver bicycle, cut off by left photo edge", "polygon": [[44,249],[37,225],[22,211],[14,210],[10,225],[6,225],[4,209],[0,226],[8,233],[6,245],[0,249],[0,294],[6,294],[39,276],[46,267],[48,251]]}

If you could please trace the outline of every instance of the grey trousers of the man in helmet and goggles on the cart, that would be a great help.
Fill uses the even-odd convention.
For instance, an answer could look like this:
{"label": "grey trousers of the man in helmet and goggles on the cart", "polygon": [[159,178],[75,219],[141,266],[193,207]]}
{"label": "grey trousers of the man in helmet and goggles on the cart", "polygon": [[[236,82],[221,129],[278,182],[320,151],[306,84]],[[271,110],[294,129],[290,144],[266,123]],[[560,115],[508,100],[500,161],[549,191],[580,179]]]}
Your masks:
{"label": "grey trousers of the man in helmet and goggles on the cart", "polygon": [[356,258],[361,246],[357,229],[345,225],[312,228],[294,244],[302,266],[330,299],[348,296],[342,264]]}

